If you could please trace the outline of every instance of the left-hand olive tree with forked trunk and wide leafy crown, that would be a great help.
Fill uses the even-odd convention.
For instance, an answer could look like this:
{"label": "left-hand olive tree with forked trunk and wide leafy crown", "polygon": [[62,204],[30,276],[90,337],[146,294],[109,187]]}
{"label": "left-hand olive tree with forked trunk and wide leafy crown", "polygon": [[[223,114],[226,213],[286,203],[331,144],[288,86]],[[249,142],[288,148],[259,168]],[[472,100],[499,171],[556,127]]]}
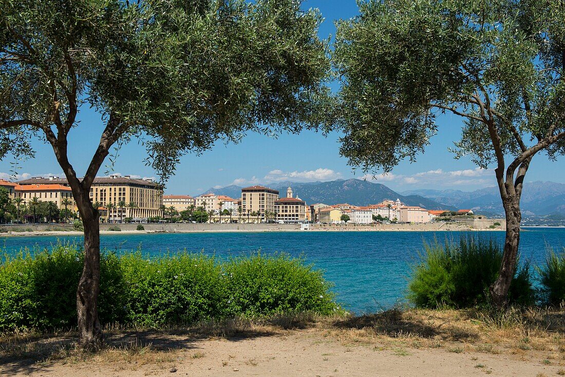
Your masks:
{"label": "left-hand olive tree with forked trunk and wide leafy crown", "polygon": [[[89,193],[121,145],[145,146],[162,181],[180,157],[246,132],[314,124],[325,98],[321,17],[297,0],[0,0],[0,156],[54,151],[84,222],[80,344],[102,339],[99,213]],[[101,114],[88,166],[69,161],[77,114]],[[84,173],[82,172],[84,169]]]}

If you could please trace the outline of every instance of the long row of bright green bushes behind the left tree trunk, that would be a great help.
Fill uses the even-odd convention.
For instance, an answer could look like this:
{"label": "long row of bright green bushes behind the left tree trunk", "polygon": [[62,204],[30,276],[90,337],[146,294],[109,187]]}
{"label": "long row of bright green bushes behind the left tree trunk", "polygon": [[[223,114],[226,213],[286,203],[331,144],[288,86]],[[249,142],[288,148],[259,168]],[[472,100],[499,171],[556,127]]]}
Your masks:
{"label": "long row of bright green bushes behind the left tree trunk", "polygon": [[[76,289],[83,254],[75,245],[24,251],[0,265],[0,331],[76,325]],[[103,252],[102,323],[159,327],[236,315],[262,316],[340,307],[321,271],[303,259],[260,253],[221,261],[177,253]]]}

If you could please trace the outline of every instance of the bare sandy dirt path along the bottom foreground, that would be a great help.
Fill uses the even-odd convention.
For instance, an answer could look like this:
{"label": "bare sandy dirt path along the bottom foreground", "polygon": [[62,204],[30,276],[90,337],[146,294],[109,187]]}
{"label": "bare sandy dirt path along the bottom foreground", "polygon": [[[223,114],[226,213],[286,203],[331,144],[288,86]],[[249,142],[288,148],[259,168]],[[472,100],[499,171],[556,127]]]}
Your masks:
{"label": "bare sandy dirt path along the bottom foreground", "polygon": [[198,339],[168,337],[175,350],[144,348],[86,359],[13,360],[2,376],[557,376],[563,370],[541,357],[449,352],[446,349],[382,349],[342,343],[320,328],[257,336]]}

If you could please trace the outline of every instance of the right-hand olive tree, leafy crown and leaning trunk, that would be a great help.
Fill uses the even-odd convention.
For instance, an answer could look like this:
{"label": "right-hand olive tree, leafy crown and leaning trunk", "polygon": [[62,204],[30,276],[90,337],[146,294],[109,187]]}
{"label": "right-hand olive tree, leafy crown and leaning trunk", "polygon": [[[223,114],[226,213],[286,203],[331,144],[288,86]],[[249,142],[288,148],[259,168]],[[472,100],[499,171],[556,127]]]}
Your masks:
{"label": "right-hand olive tree, leafy crown and leaning trunk", "polygon": [[334,68],[341,153],[366,171],[414,161],[438,115],[463,120],[455,157],[494,166],[507,228],[490,294],[505,306],[534,155],[565,151],[565,8],[541,0],[359,2],[338,22]]}

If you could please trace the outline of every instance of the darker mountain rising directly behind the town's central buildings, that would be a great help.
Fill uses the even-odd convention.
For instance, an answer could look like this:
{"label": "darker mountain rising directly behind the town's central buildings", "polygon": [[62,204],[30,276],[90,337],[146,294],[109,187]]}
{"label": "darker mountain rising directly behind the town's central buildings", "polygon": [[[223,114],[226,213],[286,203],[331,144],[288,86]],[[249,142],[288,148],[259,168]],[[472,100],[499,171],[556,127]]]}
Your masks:
{"label": "darker mountain rising directly behind the town's central buildings", "polygon": [[[385,199],[397,200],[398,198],[409,206],[419,206],[428,210],[455,210],[454,206],[441,204],[417,194],[402,195],[383,184],[359,179],[310,183],[281,182],[271,185],[272,188],[279,190],[281,196],[286,194],[286,188],[289,186],[292,187],[295,196],[305,200],[308,204],[349,203],[355,206],[363,206],[379,203]],[[209,189],[206,193],[239,198],[241,187],[231,185],[219,189]]]}

